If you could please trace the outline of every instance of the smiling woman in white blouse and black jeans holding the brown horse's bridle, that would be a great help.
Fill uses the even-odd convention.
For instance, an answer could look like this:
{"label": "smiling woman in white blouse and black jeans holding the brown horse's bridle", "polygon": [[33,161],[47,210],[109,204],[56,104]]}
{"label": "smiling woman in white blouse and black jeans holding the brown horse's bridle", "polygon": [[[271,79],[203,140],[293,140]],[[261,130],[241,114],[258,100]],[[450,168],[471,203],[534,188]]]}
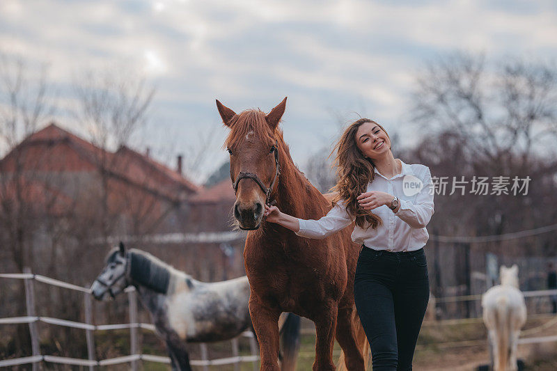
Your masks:
{"label": "smiling woman in white blouse and black jeans holding the brown horse's bridle", "polygon": [[356,224],[354,299],[373,370],[411,370],[430,292],[423,252],[434,210],[430,169],[395,159],[385,129],[367,118],[347,127],[336,150],[333,209],[316,221],[265,206],[266,220],[317,239]]}

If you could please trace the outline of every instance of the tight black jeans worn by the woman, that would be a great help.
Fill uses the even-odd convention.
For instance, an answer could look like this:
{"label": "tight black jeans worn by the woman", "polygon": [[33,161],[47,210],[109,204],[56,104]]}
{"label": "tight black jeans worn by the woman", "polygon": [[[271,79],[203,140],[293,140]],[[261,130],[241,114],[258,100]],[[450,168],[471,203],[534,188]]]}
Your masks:
{"label": "tight black jeans worn by the woman", "polygon": [[391,253],[363,246],[356,267],[354,299],[370,342],[374,371],[412,369],[429,298],[423,248]]}

